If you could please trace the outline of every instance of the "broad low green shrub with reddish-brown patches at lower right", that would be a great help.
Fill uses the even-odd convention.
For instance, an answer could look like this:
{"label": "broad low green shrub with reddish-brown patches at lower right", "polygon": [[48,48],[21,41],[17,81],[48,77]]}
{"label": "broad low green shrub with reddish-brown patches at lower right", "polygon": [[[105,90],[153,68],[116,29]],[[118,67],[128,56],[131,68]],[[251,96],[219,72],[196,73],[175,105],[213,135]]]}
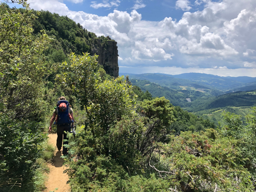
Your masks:
{"label": "broad low green shrub with reddish-brown patches at lower right", "polygon": [[170,136],[168,144],[158,143],[149,166],[169,179],[172,190],[251,191],[251,175],[243,166],[239,140],[216,138],[214,130],[205,133],[181,132]]}

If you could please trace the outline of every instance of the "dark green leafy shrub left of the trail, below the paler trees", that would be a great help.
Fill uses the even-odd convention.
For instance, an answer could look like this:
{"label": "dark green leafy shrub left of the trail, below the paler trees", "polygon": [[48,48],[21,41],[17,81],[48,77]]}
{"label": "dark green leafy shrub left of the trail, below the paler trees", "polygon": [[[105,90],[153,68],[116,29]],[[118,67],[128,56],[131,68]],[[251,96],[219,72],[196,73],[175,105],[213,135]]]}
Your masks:
{"label": "dark green leafy shrub left of the trail, below the paler trees", "polygon": [[41,154],[36,144],[46,138],[40,131],[43,128],[42,123],[1,116],[0,161],[4,167],[0,170],[0,180],[4,189],[10,187],[9,180],[23,184],[25,179],[33,177],[32,165]]}

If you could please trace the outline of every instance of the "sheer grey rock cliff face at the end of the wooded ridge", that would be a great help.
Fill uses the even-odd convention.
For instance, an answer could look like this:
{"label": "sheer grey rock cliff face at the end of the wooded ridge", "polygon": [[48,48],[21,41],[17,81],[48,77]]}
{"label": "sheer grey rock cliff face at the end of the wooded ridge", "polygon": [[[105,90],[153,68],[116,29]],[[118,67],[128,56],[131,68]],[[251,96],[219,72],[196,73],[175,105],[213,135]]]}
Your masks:
{"label": "sheer grey rock cliff face at the end of the wooded ridge", "polygon": [[[96,43],[97,41],[97,43]],[[117,42],[113,40],[108,40],[108,45],[102,47],[100,44],[100,39],[95,39],[92,46],[91,55],[99,55],[98,62],[100,65],[103,65],[104,70],[107,74],[118,77],[119,67],[118,67],[118,50]]]}

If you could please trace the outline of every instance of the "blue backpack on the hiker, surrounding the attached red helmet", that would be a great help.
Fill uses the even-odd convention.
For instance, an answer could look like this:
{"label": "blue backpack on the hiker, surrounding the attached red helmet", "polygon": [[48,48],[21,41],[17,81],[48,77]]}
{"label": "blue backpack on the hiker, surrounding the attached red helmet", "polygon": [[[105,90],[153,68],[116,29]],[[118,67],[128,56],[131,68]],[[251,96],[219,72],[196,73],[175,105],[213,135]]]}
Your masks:
{"label": "blue backpack on the hiker, surrounding the attached red helmet", "polygon": [[[59,107],[61,103],[65,103],[67,106],[66,111],[62,112]],[[68,113],[70,112],[70,106],[67,100],[60,100],[57,103],[57,108],[55,110],[58,110],[58,121],[56,122],[57,125],[64,125],[64,124],[71,124],[72,121],[70,121]]]}

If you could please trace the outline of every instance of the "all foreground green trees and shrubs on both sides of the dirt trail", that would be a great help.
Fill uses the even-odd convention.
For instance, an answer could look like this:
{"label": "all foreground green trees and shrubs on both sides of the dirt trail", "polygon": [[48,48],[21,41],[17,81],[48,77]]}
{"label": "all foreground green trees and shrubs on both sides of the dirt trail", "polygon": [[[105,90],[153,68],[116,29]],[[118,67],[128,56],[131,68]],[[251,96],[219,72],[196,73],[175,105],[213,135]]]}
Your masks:
{"label": "all foreground green trees and shrubs on both sides of the dirt trail", "polygon": [[33,33],[35,12],[19,2],[23,9],[0,4],[1,191],[48,190],[46,130],[60,96],[77,125],[61,157],[72,192],[255,191],[255,107],[245,125],[225,113],[227,125],[216,126],[107,75],[96,55],[56,63],[51,36]]}

